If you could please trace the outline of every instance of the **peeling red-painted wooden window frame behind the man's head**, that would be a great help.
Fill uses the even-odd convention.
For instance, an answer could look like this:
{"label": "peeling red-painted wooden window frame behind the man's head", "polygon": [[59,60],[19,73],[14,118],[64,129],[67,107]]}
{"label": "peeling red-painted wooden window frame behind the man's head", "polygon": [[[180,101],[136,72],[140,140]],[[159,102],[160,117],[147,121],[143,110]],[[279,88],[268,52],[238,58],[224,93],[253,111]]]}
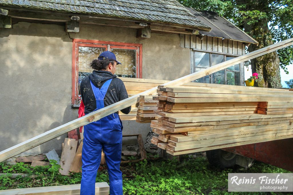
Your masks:
{"label": "peeling red-painted wooden window frame behind the man's head", "polygon": [[[142,44],[136,43],[123,43],[112,41],[99,41],[87,39],[73,39],[72,40],[72,94],[71,105],[72,107],[79,107],[76,105],[78,98],[78,52],[79,46],[83,47],[102,47],[106,51],[113,49],[133,49],[136,50],[136,77],[142,78]],[[119,61],[119,59],[118,59]],[[90,62],[88,62],[90,63]]]}

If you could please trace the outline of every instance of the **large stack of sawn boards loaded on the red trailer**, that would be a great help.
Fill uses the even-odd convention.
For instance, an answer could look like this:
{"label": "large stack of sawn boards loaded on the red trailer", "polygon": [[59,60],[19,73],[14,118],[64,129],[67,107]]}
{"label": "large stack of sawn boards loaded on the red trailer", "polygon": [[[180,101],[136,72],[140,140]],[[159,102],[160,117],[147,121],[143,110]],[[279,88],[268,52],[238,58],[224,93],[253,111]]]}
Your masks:
{"label": "large stack of sawn boards loaded on the red trailer", "polygon": [[286,89],[199,84],[159,93],[152,143],[172,155],[293,137],[293,92]]}

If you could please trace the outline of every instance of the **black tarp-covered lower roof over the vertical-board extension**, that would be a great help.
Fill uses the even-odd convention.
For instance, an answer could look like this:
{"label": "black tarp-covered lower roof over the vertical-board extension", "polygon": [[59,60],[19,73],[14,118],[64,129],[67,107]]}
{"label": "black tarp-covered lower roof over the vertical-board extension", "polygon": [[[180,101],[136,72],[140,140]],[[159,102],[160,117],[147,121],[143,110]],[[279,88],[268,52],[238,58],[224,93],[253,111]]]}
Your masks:
{"label": "black tarp-covered lower roof over the vertical-board extension", "polygon": [[222,37],[226,39],[233,39],[249,43],[258,43],[248,34],[234,26],[228,20],[220,17],[217,13],[212,11],[196,11],[193,8],[187,8],[193,15],[201,21],[212,27],[210,32],[199,31],[200,34],[205,34],[214,37]]}

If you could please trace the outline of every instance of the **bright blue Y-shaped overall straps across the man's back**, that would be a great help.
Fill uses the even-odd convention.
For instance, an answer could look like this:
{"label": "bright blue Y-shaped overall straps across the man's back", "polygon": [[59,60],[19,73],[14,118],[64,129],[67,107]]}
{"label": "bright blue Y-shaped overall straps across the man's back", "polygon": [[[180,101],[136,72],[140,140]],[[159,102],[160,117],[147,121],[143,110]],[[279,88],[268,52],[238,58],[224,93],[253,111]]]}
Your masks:
{"label": "bright blue Y-shaped overall straps across the man's back", "polygon": [[[90,79],[91,81],[91,79]],[[104,108],[104,97],[106,95],[106,92],[110,86],[110,83],[111,83],[112,79],[110,80],[107,80],[103,86],[101,87],[101,89],[99,89],[98,87],[96,87],[92,82],[91,82],[91,87],[93,89],[93,94],[95,95],[96,97],[96,104],[97,104],[97,108],[94,110],[98,110],[98,109],[101,109],[101,108]]]}

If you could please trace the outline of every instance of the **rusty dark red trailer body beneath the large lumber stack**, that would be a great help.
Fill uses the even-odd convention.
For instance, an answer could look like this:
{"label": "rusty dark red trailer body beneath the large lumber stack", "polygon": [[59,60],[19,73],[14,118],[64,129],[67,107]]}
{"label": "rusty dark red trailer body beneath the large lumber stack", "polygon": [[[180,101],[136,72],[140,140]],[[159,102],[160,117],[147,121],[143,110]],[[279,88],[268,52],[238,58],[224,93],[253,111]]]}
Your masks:
{"label": "rusty dark red trailer body beneath the large lumber stack", "polygon": [[222,150],[293,171],[293,138],[234,146]]}

